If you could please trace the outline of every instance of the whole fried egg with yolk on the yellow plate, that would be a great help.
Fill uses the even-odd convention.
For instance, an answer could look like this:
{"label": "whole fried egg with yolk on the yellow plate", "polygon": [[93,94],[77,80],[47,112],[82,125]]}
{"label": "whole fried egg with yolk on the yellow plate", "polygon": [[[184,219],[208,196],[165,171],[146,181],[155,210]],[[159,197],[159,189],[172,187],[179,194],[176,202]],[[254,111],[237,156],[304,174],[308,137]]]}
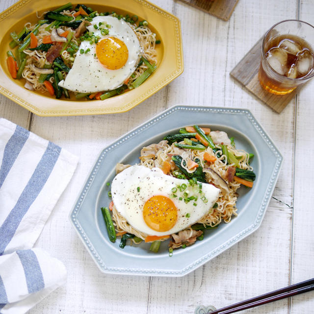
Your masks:
{"label": "whole fried egg with yolk on the yellow plate", "polygon": [[134,30],[124,20],[97,16],[87,26],[97,44],[81,42],[73,66],[59,86],[79,93],[118,88],[136,69],[142,53]]}

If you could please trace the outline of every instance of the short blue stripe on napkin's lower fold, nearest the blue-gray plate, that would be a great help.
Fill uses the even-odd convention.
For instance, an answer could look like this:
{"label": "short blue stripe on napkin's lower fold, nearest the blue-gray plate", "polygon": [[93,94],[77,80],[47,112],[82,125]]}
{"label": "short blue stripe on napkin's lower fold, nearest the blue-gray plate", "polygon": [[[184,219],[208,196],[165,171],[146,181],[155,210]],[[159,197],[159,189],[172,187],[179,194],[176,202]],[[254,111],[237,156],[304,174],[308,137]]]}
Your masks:
{"label": "short blue stripe on napkin's lower fold, nearest the blue-gray plate", "polygon": [[44,277],[36,254],[32,250],[18,250],[25,273],[28,293],[33,293],[45,288]]}

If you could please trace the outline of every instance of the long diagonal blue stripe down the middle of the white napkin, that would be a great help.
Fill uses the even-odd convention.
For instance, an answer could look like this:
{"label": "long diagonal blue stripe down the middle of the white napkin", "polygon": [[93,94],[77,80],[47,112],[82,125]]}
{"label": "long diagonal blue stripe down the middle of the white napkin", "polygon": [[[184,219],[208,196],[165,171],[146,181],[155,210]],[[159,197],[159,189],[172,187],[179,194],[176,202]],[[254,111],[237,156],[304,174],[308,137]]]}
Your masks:
{"label": "long diagonal blue stripe down the middle of the white napkin", "polygon": [[39,161],[30,180],[26,184],[26,187],[23,190],[16,205],[0,227],[0,239],[2,239],[2,242],[0,243],[0,255],[3,254],[6,246],[10,243],[27,210],[35,201],[36,197],[48,180],[52,169],[60,155],[60,152],[61,148],[59,146],[49,142],[44,155]]}

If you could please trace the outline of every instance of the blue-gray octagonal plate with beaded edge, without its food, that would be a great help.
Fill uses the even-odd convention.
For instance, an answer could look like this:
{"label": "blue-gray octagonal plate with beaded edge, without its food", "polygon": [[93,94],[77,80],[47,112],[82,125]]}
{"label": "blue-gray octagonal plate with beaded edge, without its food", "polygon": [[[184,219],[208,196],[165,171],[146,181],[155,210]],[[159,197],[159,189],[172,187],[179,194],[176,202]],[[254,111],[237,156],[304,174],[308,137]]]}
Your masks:
{"label": "blue-gray octagonal plate with beaded edge, without its food", "polygon": [[[117,162],[135,164],[143,146],[157,143],[165,135],[188,125],[226,131],[235,137],[237,149],[253,153],[251,165],[256,173],[252,189],[241,187],[237,200],[238,215],[230,223],[207,231],[204,240],[185,249],[174,250],[169,257],[168,241],[158,253],[149,251],[149,243],[119,247],[120,240],[108,239],[101,207],[108,196]],[[176,105],[142,124],[106,147],[96,160],[78,200],[70,213],[80,239],[101,271],[111,274],[183,276],[236,242],[256,231],[274,190],[282,164],[282,155],[249,110]]]}

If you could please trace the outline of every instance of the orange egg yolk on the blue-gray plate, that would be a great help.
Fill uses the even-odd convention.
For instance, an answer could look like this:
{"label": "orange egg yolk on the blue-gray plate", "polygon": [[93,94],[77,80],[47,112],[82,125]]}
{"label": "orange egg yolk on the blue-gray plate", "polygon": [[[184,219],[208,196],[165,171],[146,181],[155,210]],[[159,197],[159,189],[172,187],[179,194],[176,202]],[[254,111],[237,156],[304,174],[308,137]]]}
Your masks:
{"label": "orange egg yolk on the blue-gray plate", "polygon": [[155,195],[144,204],[144,221],[148,227],[155,231],[170,230],[176,224],[177,216],[176,206],[166,196]]}

